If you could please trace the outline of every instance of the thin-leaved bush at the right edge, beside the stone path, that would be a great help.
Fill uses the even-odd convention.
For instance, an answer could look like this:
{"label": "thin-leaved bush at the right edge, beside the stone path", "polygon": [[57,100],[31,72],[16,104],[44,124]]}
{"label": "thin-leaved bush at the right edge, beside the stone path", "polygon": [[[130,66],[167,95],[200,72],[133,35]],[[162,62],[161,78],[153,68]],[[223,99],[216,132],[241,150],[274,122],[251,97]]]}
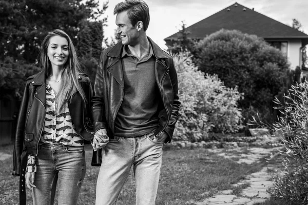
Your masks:
{"label": "thin-leaved bush at the right edge, beside the stone path", "polygon": [[[269,127],[283,143],[285,174],[274,179],[271,194],[291,204],[308,204],[308,83],[292,85],[283,100],[275,99],[281,112]],[[257,120],[255,119],[255,122]]]}

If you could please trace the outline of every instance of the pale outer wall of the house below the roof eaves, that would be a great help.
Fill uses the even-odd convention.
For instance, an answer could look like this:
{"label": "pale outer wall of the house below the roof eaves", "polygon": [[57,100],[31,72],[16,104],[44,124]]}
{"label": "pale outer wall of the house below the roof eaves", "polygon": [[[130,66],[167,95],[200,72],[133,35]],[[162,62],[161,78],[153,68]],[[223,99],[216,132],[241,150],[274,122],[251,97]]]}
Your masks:
{"label": "pale outer wall of the house below the roof eaves", "polygon": [[290,39],[288,42],[287,59],[291,64],[291,69],[295,70],[296,66],[300,66],[300,47],[302,45],[300,39]]}

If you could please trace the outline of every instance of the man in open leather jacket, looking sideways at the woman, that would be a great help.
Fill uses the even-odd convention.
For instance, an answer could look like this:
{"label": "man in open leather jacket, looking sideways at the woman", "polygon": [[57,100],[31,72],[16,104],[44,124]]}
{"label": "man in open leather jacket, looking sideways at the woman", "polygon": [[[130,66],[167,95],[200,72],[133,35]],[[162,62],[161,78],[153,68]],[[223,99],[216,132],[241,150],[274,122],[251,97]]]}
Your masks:
{"label": "man in open leather jacket, looking sideways at the woman", "polygon": [[146,36],[145,2],[126,0],[114,14],[121,41],[102,52],[92,98],[93,147],[106,146],[93,153],[92,165],[101,164],[95,204],[117,203],[131,167],[136,204],[155,204],[163,144],[178,119],[177,73],[172,57]]}

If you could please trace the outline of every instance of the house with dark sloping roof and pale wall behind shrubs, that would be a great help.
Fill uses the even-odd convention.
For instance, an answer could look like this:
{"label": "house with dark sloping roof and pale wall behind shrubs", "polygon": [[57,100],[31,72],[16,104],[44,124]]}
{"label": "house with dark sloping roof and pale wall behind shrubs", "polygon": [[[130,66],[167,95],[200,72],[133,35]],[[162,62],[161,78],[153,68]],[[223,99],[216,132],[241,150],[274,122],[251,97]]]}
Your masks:
{"label": "house with dark sloping roof and pale wall behind shrubs", "polygon": [[[302,48],[308,44],[308,35],[269,18],[254,9],[249,9],[238,3],[201,20],[186,28],[190,33],[188,38],[203,39],[220,29],[239,30],[247,34],[255,34],[266,42],[278,48],[288,59],[291,69],[302,64]],[[181,37],[177,32],[167,38],[167,46]]]}

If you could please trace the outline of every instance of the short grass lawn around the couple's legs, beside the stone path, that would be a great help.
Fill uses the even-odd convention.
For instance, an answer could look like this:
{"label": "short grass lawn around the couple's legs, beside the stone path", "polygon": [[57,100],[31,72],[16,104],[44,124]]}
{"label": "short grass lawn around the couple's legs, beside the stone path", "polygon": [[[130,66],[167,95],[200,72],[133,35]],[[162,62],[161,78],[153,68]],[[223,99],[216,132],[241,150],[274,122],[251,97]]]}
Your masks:
{"label": "short grass lawn around the couple's legs, beside the stone path", "polygon": [[[13,146],[0,147],[1,152],[12,154]],[[92,152],[86,145],[87,172],[82,186],[79,204],[94,204],[95,186],[99,167],[91,167]],[[264,161],[247,165],[238,164],[233,159],[218,156],[207,149],[168,149],[164,150],[163,164],[157,205],[181,205],[189,200],[201,200],[217,191],[231,189],[240,193],[243,187],[232,184],[244,179],[249,173],[257,172],[264,166]],[[18,177],[13,177],[12,159],[0,161],[0,204],[11,205],[18,203]],[[135,184],[131,172],[122,192],[118,205],[135,203]],[[32,204],[31,191],[27,189],[27,204]]]}

